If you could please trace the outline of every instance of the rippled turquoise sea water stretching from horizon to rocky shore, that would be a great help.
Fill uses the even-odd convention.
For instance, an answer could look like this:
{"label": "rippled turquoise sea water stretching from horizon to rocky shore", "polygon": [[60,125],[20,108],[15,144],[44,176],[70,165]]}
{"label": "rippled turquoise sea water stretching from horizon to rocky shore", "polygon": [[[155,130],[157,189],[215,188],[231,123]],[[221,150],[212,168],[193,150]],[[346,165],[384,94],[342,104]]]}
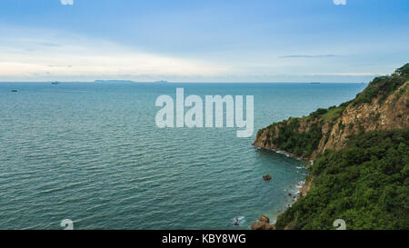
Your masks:
{"label": "rippled turquoise sea water stretching from horizon to rocky shore", "polygon": [[[256,131],[365,85],[0,83],[0,229],[62,229],[63,219],[75,229],[249,229],[283,212],[285,190],[306,174],[301,161],[255,149]],[[176,87],[203,99],[253,94],[253,136],[157,128],[155,99],[175,99]]]}

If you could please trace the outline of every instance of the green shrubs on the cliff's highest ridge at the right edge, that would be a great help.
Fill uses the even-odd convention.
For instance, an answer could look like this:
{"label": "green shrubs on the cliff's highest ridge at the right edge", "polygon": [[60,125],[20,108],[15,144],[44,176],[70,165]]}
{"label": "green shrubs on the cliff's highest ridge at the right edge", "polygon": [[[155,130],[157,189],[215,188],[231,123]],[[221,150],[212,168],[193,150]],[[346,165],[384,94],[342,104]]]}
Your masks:
{"label": "green shrubs on the cliff's highest ridge at the right edge", "polygon": [[375,97],[379,97],[379,102],[383,103],[386,98],[409,80],[409,64],[404,64],[390,76],[375,77],[368,84],[364,92],[357,94],[353,105],[371,103]]}

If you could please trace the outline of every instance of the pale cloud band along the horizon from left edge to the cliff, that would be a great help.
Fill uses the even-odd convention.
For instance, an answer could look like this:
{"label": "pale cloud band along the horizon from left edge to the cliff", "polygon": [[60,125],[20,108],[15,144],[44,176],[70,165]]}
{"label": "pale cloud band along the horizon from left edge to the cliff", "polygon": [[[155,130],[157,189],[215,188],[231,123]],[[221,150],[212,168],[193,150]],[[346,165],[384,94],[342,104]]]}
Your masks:
{"label": "pale cloud band along the horizon from left edge to the cliff", "polygon": [[0,81],[8,82],[364,82],[384,74],[384,66],[375,66],[377,63],[351,65],[347,53],[354,51],[346,48],[263,55],[180,55],[63,30],[0,24],[0,31],[8,34],[0,39]]}

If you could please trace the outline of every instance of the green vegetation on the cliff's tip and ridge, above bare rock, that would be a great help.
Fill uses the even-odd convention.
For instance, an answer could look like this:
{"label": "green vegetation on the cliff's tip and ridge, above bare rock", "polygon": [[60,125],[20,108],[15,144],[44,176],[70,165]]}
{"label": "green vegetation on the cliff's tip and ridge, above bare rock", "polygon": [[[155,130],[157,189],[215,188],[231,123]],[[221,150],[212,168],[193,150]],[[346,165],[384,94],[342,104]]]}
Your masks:
{"label": "green vegetation on the cliff's tip and ridge, above bare rock", "polygon": [[[270,143],[291,154],[305,158],[310,157],[318,148],[320,140],[323,138],[323,125],[329,124],[329,127],[332,128],[348,105],[371,103],[375,97],[377,97],[379,103],[382,104],[390,94],[393,94],[394,91],[408,80],[409,64],[404,64],[404,66],[397,69],[391,76],[374,78],[365,88],[364,92],[357,94],[354,100],[345,102],[339,106],[331,106],[328,109],[319,108],[308,116],[290,118],[287,121],[268,126],[267,128],[272,130],[273,133],[275,133],[276,130],[278,131],[274,137],[270,137]],[[396,99],[399,99],[399,97],[405,94],[405,91],[405,88],[401,88],[398,94],[396,94]],[[374,122],[376,122],[378,118],[379,115],[375,115]],[[300,128],[301,124],[304,125],[303,128]],[[338,123],[338,128],[341,132],[344,132],[345,128],[348,130],[355,128],[356,130],[364,132],[362,126],[354,126],[353,124],[345,126],[345,124],[341,122]],[[328,138],[328,136],[325,137],[326,141]]]}

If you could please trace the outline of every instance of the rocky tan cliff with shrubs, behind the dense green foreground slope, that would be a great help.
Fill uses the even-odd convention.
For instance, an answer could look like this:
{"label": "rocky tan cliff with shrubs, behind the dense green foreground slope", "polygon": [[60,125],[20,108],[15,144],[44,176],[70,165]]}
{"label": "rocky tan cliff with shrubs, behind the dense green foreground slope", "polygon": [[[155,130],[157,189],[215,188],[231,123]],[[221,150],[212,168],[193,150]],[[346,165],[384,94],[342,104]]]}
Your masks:
{"label": "rocky tan cliff with shrubs, behind the dense green foreground slope", "polygon": [[343,149],[350,135],[409,126],[408,68],[375,78],[352,101],[259,130],[254,146],[314,160],[325,150]]}

